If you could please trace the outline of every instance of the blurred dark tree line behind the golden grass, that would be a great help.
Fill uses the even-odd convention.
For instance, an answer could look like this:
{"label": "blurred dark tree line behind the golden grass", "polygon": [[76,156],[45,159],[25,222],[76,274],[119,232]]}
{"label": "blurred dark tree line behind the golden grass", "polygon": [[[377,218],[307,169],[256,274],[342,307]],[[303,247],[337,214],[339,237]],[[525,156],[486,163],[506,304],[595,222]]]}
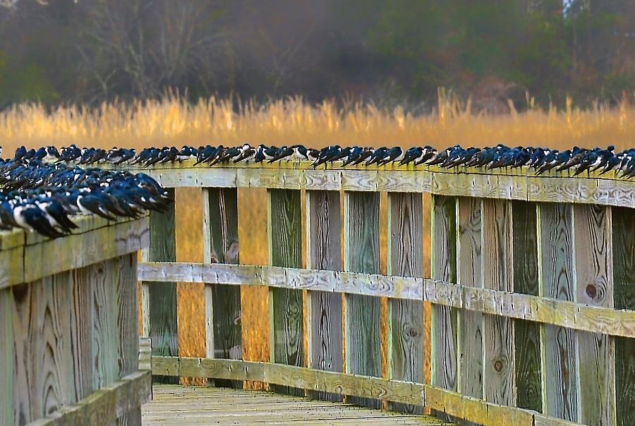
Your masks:
{"label": "blurred dark tree line behind the golden grass", "polygon": [[635,1],[0,0],[0,108],[175,90],[425,112],[437,87],[490,111],[632,97]]}

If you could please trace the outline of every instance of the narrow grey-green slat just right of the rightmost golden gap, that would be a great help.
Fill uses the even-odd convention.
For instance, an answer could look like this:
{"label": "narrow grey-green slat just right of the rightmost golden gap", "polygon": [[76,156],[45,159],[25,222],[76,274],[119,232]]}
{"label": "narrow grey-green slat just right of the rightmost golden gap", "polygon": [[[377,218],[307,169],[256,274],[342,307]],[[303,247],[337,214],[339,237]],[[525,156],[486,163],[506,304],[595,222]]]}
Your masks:
{"label": "narrow grey-green slat just right of the rightmost golden gap", "polygon": [[[455,283],[456,198],[433,195],[432,209],[432,278]],[[456,314],[447,306],[432,308],[432,384],[452,391],[457,384]]]}

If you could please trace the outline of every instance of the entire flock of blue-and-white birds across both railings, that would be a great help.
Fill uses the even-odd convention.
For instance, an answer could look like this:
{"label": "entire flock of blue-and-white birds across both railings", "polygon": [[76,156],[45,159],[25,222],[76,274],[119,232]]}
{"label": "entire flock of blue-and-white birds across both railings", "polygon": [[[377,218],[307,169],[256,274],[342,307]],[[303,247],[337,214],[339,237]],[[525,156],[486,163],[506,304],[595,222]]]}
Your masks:
{"label": "entire flock of blue-and-white birds across both railings", "polygon": [[[1,155],[1,148],[0,148]],[[154,164],[195,160],[194,165],[221,163],[303,160],[313,168],[327,166],[370,166],[413,164],[414,166],[481,167],[485,169],[528,166],[540,175],[546,171],[615,171],[617,176],[635,176],[635,149],[615,152],[615,147],[549,150],[542,147],[463,148],[433,147],[341,147],[330,145],[315,150],[303,145],[238,147],[223,145],[133,149],[80,148],[70,145],[58,150],[20,147],[12,159],[0,159],[0,229],[21,227],[56,238],[70,233],[76,225],[73,214],[97,214],[109,220],[139,217],[147,210],[162,211],[172,200],[155,180],[145,174],[102,170],[99,164],[129,164],[140,168]]]}

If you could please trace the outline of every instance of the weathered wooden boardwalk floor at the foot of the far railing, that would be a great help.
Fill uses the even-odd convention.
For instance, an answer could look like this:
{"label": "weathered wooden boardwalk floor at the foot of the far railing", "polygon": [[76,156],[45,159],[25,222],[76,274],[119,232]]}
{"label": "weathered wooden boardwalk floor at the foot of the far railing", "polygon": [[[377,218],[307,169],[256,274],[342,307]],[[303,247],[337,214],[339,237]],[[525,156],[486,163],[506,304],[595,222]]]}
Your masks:
{"label": "weathered wooden boardwalk floor at the foot of the far railing", "polygon": [[222,388],[155,385],[142,408],[144,425],[444,425],[425,415],[404,415]]}

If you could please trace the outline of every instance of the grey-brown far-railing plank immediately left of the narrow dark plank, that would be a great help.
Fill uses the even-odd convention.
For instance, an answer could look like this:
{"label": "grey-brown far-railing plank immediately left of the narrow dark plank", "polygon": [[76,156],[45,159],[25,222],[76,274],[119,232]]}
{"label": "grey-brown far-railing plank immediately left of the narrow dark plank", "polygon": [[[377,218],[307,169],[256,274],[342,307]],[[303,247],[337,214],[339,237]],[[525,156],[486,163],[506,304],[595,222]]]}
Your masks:
{"label": "grey-brown far-railing plank immediately left of the narrow dark plank", "polygon": [[[514,291],[512,203],[483,200],[483,285],[496,291]],[[483,316],[486,401],[516,406],[516,354],[512,319]]]}

